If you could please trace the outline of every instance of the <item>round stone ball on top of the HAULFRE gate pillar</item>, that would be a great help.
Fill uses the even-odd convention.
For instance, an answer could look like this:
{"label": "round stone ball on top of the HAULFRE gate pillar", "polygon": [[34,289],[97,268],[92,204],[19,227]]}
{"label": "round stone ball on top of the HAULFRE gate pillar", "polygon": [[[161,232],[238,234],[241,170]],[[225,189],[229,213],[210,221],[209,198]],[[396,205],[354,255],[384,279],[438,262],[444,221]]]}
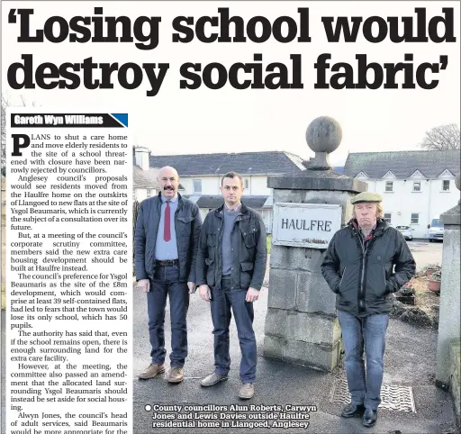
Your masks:
{"label": "round stone ball on top of the HAULFRE gate pillar", "polygon": [[316,118],[307,127],[306,141],[314,152],[330,154],[339,147],[341,139],[341,126],[330,116]]}

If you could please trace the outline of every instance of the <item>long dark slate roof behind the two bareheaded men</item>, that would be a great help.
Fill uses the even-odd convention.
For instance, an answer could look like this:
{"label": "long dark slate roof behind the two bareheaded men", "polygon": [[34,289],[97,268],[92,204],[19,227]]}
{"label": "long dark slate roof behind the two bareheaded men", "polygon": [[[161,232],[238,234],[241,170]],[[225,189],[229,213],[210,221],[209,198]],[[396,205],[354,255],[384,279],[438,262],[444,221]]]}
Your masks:
{"label": "long dark slate roof behind the two bareheaded men", "polygon": [[175,167],[179,176],[278,175],[305,169],[303,158],[283,151],[228,154],[162,155],[149,157],[150,167]]}

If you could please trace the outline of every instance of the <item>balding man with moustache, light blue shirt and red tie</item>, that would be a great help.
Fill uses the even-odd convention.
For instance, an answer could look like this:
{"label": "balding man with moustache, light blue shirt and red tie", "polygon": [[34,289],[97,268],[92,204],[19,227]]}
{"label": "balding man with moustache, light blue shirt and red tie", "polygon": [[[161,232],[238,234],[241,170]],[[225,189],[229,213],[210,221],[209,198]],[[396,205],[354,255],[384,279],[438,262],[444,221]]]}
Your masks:
{"label": "balding man with moustache, light blue shirt and red tie", "polygon": [[179,176],[173,167],[158,172],[160,192],[140,204],[134,235],[136,280],[147,293],[150,365],[142,380],[165,371],[165,307],[169,298],[171,354],[169,383],[181,383],[187,357],[186,315],[189,294],[195,292],[195,259],[202,227],[200,212],[177,193]]}

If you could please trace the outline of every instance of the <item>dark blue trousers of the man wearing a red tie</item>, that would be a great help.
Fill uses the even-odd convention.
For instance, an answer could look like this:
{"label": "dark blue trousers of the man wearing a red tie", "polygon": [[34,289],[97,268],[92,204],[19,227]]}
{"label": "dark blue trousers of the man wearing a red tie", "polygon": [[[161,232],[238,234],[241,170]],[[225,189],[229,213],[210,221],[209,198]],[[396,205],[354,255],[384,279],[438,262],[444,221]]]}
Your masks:
{"label": "dark blue trousers of the man wearing a red tie", "polygon": [[171,321],[170,366],[182,367],[187,357],[187,322],[189,308],[189,290],[187,284],[178,282],[179,268],[155,268],[154,278],[150,280],[148,295],[149,339],[152,350],[152,363],[161,365],[165,362],[165,307],[169,297]]}

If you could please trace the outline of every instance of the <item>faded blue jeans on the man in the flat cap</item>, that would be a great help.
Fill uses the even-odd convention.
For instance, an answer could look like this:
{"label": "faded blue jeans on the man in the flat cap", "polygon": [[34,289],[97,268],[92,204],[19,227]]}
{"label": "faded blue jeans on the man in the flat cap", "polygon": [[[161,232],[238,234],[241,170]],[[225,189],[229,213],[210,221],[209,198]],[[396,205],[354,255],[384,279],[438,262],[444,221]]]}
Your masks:
{"label": "faded blue jeans on the man in the flat cap", "polygon": [[351,401],[377,410],[381,403],[385,332],[389,324],[389,315],[376,313],[366,318],[357,318],[348,312],[338,311],[338,319],[346,351],[345,365]]}

